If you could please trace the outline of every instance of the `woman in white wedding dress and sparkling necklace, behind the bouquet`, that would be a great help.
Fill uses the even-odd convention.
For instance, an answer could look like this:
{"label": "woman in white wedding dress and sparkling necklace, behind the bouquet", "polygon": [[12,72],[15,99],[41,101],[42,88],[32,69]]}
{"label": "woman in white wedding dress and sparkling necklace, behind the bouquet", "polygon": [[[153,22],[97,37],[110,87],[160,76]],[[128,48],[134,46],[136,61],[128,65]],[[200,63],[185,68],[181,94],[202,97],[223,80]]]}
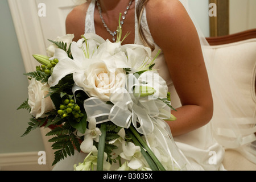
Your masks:
{"label": "woman in white wedding dress and sparkling necklace, behind the bouquet", "polygon": [[[179,0],[89,0],[75,7],[66,19],[67,34],[94,32],[115,41],[119,13],[122,31],[130,32],[123,44],[142,44],[156,55],[155,68],[166,80],[171,93],[172,113],[168,122],[188,170],[222,170],[224,149],[213,136],[210,120],[213,99],[200,37],[184,5]],[[210,160],[211,154],[216,157]],[[76,153],[56,164],[53,170],[73,169],[85,154]]]}

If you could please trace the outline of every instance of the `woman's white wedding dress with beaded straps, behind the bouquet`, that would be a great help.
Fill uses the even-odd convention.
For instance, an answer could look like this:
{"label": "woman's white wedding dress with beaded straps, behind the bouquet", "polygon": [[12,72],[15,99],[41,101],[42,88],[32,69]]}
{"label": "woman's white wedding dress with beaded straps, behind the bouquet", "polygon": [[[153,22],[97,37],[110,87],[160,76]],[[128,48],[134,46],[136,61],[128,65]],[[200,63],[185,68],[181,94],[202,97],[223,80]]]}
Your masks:
{"label": "woman's white wedding dress with beaded straps, behind the bouquet", "polygon": [[[138,0],[135,0],[137,4]],[[95,32],[94,29],[94,8],[95,0],[92,0],[85,20],[85,33]],[[155,45],[155,51],[152,52],[152,56],[160,49],[158,45],[154,43],[150,30],[148,28],[146,11],[144,10],[142,16],[142,27],[146,38]],[[135,14],[135,44],[142,44],[138,35],[138,22]],[[168,67],[164,60],[163,54],[160,54],[155,61],[155,68],[160,70],[159,74],[164,80],[167,81],[169,91],[171,93],[172,106],[181,106],[179,97],[177,96],[174,84],[172,83]],[[224,170],[222,166],[222,160],[224,158],[224,148],[221,144],[218,144],[213,138],[212,125],[209,122],[207,125],[200,129],[191,131],[190,133],[181,135],[174,138],[177,147],[179,147],[181,154],[187,162],[188,170]],[[56,164],[53,170],[73,170],[73,164],[78,164],[84,161],[86,154],[76,152],[74,156],[68,156],[64,160],[61,160]]]}

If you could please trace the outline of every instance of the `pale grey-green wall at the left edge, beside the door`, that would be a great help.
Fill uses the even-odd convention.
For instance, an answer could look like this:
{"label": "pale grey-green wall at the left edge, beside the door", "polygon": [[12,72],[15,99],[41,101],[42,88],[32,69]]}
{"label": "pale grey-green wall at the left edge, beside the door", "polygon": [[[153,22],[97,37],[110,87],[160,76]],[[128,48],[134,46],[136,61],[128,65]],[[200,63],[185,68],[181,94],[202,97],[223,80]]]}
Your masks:
{"label": "pale grey-green wall at the left edge, beside the door", "polygon": [[28,110],[16,110],[28,97],[27,77],[7,0],[0,1],[0,154],[44,150],[39,130],[20,138]]}

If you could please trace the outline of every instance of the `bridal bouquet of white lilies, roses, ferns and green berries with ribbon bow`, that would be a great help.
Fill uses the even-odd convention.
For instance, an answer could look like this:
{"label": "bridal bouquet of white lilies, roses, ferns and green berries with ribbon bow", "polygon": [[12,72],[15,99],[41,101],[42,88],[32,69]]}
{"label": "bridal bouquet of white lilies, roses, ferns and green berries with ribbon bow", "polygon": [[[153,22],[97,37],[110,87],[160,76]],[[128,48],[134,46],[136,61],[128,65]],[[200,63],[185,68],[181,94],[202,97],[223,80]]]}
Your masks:
{"label": "bridal bouquet of white lilies, roses, ferns and green berries with ribbon bow", "polygon": [[[166,120],[171,114],[166,82],[154,70],[151,49],[122,46],[96,34],[58,37],[48,56],[34,55],[40,66],[31,80],[28,109],[32,118],[23,134],[50,127],[53,165],[75,150],[88,154],[75,170],[182,169]],[[165,120],[165,121],[164,121]]]}

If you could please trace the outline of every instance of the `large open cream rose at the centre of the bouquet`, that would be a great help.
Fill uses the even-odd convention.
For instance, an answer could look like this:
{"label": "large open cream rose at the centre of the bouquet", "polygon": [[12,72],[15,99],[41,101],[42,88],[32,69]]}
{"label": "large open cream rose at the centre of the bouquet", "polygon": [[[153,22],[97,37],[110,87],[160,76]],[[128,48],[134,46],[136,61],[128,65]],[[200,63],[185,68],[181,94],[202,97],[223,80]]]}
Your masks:
{"label": "large open cream rose at the centre of the bouquet", "polygon": [[109,101],[110,94],[117,88],[123,88],[126,82],[126,75],[122,68],[108,69],[103,61],[92,63],[84,73],[74,73],[74,81],[78,86],[84,88],[92,97]]}

